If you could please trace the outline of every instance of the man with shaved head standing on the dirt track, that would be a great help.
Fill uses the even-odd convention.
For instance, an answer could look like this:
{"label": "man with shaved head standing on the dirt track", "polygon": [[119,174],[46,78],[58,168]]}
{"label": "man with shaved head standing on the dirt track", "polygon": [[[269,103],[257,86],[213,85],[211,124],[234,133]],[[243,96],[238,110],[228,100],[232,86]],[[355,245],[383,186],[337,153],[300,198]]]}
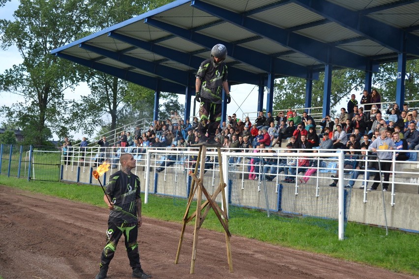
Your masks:
{"label": "man with shaved head standing on the dirt track", "polygon": [[131,154],[124,153],[120,156],[120,165],[121,169],[110,176],[103,196],[110,212],[106,246],[102,251],[100,271],[96,279],[106,278],[109,263],[122,234],[125,237],[129,265],[132,267],[132,277],[151,278],[141,268],[138,252],[137,234],[138,227],[142,224],[140,179],[131,173],[131,169],[136,167],[136,161]]}

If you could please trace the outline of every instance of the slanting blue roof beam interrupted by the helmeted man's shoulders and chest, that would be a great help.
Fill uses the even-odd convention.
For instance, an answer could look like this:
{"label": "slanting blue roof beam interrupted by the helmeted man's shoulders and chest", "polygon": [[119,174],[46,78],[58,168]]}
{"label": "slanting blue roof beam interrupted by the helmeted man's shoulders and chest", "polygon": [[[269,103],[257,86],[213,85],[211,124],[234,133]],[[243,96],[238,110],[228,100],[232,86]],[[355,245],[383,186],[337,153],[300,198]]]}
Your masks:
{"label": "slanting blue roof beam interrupted by the helmeted man's shoulders and chest", "polygon": [[[198,70],[199,65],[203,61],[202,57],[194,56],[188,53],[180,52],[180,51],[163,47],[157,44],[135,39],[135,38],[132,38],[132,37],[120,34],[120,33],[116,33],[114,31],[109,32],[108,36],[118,41],[138,47],[140,49],[150,51],[159,56],[166,57],[170,60],[186,65],[195,70]],[[257,84],[259,79],[255,74],[235,68],[234,71],[229,72],[229,80],[237,82],[237,83],[243,83],[243,84],[244,83]]]}

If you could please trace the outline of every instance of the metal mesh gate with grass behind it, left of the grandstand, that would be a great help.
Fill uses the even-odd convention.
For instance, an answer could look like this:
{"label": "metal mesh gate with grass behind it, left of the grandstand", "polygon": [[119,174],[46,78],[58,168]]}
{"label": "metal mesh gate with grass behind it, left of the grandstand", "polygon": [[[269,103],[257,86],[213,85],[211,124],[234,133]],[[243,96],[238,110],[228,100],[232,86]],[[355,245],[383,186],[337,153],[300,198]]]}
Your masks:
{"label": "metal mesh gate with grass behind it, left of the grandstand", "polygon": [[30,167],[30,180],[60,181],[60,148],[33,146],[26,158],[25,169]]}

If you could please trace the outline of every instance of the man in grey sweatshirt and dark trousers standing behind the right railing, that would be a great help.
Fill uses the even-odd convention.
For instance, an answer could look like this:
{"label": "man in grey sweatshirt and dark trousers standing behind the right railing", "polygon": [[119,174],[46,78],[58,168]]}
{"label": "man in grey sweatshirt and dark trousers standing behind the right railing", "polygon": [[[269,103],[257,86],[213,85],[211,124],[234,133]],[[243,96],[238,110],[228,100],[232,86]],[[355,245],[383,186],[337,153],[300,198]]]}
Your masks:
{"label": "man in grey sweatshirt and dark trousers standing behind the right railing", "polygon": [[[391,162],[383,162],[382,160],[391,161],[392,160],[392,153],[388,150],[393,150],[396,148],[396,145],[394,144],[393,140],[387,138],[387,129],[386,128],[380,128],[380,136],[375,139],[370,146],[368,147],[368,150],[371,150],[373,152],[377,152],[377,156],[380,159],[380,166],[381,170],[384,172],[384,181],[387,181],[387,183],[383,183],[383,191],[387,192],[387,189],[389,187],[389,177],[390,177],[390,169],[391,169]],[[380,181],[381,173],[377,172],[374,176],[375,181]],[[368,191],[375,191],[377,190],[378,185],[380,182],[374,182],[371,186],[371,188],[368,189]]]}

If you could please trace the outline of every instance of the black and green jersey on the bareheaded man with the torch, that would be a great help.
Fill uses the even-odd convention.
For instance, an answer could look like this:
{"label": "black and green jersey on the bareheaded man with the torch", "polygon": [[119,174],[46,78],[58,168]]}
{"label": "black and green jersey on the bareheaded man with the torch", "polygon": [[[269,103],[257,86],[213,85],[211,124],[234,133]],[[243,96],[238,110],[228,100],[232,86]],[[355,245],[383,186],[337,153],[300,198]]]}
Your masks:
{"label": "black and green jersey on the bareheaded man with the torch", "polygon": [[137,175],[120,171],[109,178],[105,193],[112,197],[114,209],[109,213],[109,221],[116,224],[137,223],[135,199],[140,197],[140,179]]}

